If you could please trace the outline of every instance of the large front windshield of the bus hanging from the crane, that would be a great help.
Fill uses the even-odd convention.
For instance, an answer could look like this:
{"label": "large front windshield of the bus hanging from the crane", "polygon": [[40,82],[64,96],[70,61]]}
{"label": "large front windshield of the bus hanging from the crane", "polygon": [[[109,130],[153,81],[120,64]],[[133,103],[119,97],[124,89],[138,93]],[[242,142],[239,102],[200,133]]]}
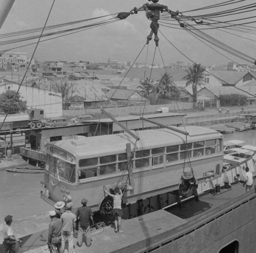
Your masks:
{"label": "large front windshield of the bus hanging from the crane", "polygon": [[45,170],[63,181],[69,183],[75,183],[76,181],[75,164],[68,163],[49,154],[46,157]]}

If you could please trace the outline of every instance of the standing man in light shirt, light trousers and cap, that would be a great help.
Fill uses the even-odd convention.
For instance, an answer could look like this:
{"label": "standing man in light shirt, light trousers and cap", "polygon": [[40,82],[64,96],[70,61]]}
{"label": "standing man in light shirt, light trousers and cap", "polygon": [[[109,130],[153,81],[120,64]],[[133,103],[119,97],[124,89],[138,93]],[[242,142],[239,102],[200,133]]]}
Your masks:
{"label": "standing man in light shirt, light trousers and cap", "polygon": [[71,213],[72,207],[72,202],[66,203],[66,211],[60,218],[62,221],[62,253],[65,250],[66,239],[68,239],[68,253],[73,252],[73,232],[76,229],[76,216]]}

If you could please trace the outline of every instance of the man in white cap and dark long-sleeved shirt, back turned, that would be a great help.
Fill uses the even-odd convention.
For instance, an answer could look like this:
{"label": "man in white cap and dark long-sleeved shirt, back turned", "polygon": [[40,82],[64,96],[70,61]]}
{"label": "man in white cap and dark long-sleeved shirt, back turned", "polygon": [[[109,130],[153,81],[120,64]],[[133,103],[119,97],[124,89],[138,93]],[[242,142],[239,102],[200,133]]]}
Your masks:
{"label": "man in white cap and dark long-sleeved shirt, back turned", "polygon": [[[49,224],[49,232],[48,232],[48,247],[50,249],[50,252],[60,253],[61,246],[62,246],[62,221],[56,217],[56,212],[54,210],[49,211],[49,216],[51,219],[51,222]],[[57,251],[56,251],[57,248]]]}

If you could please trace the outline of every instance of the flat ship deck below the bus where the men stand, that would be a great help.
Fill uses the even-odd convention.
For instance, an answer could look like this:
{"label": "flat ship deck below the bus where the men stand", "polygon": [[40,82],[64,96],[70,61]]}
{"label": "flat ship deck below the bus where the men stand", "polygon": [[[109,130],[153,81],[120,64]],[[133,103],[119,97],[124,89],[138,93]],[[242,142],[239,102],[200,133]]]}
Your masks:
{"label": "flat ship deck below the bus where the men stand", "polygon": [[[97,229],[92,232],[92,245],[89,248],[87,248],[84,241],[81,248],[77,247],[77,241],[74,238],[75,252],[139,253],[159,248],[209,223],[212,219],[225,215],[232,208],[239,207],[242,203],[255,197],[254,188],[246,193],[243,184],[238,183],[230,189],[220,189],[220,193],[216,195],[210,192],[201,195],[198,202],[194,198],[185,199],[181,202],[181,208],[174,205],[165,208],[165,210],[147,213],[130,220],[122,220],[123,234],[115,233],[112,226]],[[42,218],[44,219],[42,223],[48,224],[49,216],[48,219],[46,215],[43,215]],[[32,218],[26,218],[24,221],[20,220],[18,227],[26,227],[33,222],[40,223],[38,217],[34,217],[34,219],[34,221],[32,221]],[[18,227],[16,234],[19,232],[17,231]],[[47,246],[43,246],[46,245],[46,242],[42,240],[47,239],[47,232],[48,230],[45,229],[24,237],[24,250],[28,250],[29,253],[41,253],[47,250]],[[42,245],[42,247],[39,247],[39,245]],[[67,250],[65,250],[66,252]]]}

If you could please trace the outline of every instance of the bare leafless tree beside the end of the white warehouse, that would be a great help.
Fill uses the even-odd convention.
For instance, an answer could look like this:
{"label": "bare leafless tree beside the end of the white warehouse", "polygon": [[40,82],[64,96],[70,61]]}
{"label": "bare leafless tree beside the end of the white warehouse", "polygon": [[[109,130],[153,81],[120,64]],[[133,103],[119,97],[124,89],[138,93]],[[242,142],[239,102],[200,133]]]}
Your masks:
{"label": "bare leafless tree beside the end of the white warehouse", "polygon": [[62,104],[64,104],[64,109],[68,107],[70,99],[77,90],[75,81],[61,80],[56,84],[56,91],[62,93]]}

